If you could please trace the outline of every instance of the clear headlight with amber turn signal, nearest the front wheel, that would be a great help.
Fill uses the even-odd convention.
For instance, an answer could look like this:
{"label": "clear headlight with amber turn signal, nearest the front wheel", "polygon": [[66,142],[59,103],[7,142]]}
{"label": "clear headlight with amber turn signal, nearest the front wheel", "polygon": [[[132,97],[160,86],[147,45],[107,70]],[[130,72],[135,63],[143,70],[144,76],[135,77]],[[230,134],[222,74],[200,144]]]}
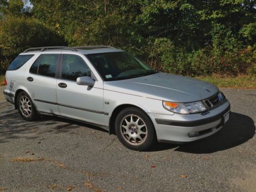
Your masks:
{"label": "clear headlight with amber turn signal, nearest the front wheel", "polygon": [[180,114],[197,113],[206,110],[206,106],[203,104],[202,101],[189,103],[163,101],[163,107],[168,111]]}

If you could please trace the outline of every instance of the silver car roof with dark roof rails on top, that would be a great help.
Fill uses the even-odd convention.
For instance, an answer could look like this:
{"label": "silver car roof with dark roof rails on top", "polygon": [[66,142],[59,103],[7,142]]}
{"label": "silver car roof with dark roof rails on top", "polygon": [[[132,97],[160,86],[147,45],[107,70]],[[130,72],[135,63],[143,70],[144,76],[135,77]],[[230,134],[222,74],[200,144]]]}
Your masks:
{"label": "silver car roof with dark roof rails on top", "polygon": [[67,52],[67,53],[81,53],[81,54],[94,54],[94,53],[108,53],[108,52],[121,52],[123,50],[116,49],[110,46],[81,46],[81,47],[38,47],[25,50],[21,54],[31,53],[53,53],[53,52]]}

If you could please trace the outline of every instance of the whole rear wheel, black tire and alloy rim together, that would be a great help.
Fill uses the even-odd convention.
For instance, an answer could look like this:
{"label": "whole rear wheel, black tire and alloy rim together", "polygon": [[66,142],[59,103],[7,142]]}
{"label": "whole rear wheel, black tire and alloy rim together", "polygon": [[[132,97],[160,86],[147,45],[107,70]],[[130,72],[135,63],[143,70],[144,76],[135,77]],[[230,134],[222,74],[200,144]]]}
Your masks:
{"label": "whole rear wheel, black tire and alloy rim together", "polygon": [[19,115],[23,119],[32,121],[37,118],[37,113],[32,99],[25,91],[18,94],[16,102]]}

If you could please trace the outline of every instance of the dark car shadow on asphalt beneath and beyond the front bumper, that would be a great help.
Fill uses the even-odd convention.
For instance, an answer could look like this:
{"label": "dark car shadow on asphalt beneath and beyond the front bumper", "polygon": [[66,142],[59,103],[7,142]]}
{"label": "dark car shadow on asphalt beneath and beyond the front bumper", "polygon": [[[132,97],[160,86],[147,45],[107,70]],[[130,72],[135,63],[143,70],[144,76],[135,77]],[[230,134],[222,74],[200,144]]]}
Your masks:
{"label": "dark car shadow on asphalt beneath and beyond the front bumper", "polygon": [[209,154],[241,145],[250,140],[254,134],[255,125],[250,117],[231,112],[230,120],[214,135],[186,144],[158,143],[151,151],[176,148],[175,151],[179,152]]}

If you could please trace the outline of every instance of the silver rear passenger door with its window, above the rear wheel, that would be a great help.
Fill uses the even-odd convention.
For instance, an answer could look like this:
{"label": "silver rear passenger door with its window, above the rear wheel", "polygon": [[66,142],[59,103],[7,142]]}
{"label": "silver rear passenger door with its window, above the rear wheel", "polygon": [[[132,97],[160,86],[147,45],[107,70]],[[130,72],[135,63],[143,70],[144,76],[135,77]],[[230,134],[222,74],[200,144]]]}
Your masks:
{"label": "silver rear passenger door with its window, above the rear wheel", "polygon": [[26,73],[26,87],[37,111],[59,115],[56,82],[60,54],[41,54]]}

